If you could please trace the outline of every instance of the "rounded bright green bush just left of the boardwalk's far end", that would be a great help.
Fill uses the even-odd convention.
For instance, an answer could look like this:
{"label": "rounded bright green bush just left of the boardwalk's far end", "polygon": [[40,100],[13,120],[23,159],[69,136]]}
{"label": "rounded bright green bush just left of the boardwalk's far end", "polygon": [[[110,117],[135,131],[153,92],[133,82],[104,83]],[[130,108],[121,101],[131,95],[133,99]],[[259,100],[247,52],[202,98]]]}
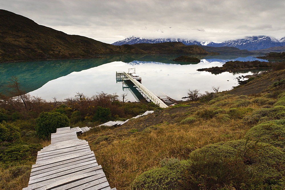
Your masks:
{"label": "rounded bright green bush just left of the boardwalk's far end", "polygon": [[36,135],[47,138],[51,133],[56,133],[57,128],[68,127],[69,120],[65,114],[59,112],[42,112],[36,119]]}

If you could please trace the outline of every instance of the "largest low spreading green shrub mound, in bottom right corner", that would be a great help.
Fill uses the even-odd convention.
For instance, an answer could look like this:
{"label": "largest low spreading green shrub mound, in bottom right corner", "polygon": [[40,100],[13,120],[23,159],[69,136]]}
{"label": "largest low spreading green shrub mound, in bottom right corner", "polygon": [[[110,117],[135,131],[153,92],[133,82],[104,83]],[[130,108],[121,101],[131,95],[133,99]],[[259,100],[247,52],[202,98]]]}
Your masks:
{"label": "largest low spreading green shrub mound, in bottom right corner", "polygon": [[[190,174],[204,179],[204,189],[220,189],[232,184],[270,187],[270,180],[284,177],[285,153],[270,144],[238,140],[207,145],[190,154]],[[226,164],[225,164],[226,163]],[[231,173],[235,171],[234,173]],[[235,174],[236,173],[236,174]],[[199,178],[200,177],[200,178]],[[193,182],[192,179],[189,180]],[[201,182],[201,181],[200,181]],[[255,189],[255,188],[254,188]]]}

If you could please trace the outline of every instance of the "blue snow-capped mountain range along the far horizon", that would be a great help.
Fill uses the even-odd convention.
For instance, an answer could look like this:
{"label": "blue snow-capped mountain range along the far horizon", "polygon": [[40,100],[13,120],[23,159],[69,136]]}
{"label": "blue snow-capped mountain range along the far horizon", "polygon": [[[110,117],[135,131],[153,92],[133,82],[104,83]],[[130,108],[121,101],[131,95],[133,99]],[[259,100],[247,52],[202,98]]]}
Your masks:
{"label": "blue snow-capped mountain range along the far horizon", "polygon": [[268,36],[251,36],[244,39],[237,40],[227,40],[222,43],[215,43],[212,41],[208,42],[198,42],[196,40],[188,40],[181,38],[157,38],[157,39],[146,39],[131,36],[125,40],[114,42],[113,45],[123,45],[123,44],[138,44],[138,43],[162,43],[162,42],[182,42],[185,45],[202,45],[202,46],[212,46],[212,47],[236,47],[239,49],[256,50],[256,49],[266,49],[275,46],[285,46],[285,37],[277,40],[276,38],[270,38]]}

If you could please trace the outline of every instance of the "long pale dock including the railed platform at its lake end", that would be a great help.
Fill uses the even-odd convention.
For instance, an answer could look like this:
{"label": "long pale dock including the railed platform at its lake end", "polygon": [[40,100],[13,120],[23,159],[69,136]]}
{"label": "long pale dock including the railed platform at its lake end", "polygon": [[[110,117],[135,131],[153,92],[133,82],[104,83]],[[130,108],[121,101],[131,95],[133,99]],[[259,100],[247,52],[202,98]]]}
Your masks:
{"label": "long pale dock including the railed platform at its lake end", "polygon": [[130,80],[136,88],[139,90],[141,94],[146,96],[151,102],[158,105],[161,108],[168,108],[168,106],[160,99],[158,96],[150,92],[145,86],[143,86],[140,82],[138,82],[136,79],[133,79],[130,75],[130,73],[126,73],[124,71],[117,71],[116,72],[116,80]]}

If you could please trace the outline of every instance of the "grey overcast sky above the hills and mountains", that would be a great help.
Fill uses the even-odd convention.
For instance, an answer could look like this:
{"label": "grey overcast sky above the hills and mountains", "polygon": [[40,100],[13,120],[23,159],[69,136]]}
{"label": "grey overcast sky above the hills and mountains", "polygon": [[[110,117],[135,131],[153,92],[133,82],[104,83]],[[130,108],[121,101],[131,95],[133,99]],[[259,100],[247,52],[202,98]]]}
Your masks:
{"label": "grey overcast sky above the hills and mountains", "polygon": [[0,0],[0,9],[105,43],[129,36],[213,42],[285,36],[284,0]]}

